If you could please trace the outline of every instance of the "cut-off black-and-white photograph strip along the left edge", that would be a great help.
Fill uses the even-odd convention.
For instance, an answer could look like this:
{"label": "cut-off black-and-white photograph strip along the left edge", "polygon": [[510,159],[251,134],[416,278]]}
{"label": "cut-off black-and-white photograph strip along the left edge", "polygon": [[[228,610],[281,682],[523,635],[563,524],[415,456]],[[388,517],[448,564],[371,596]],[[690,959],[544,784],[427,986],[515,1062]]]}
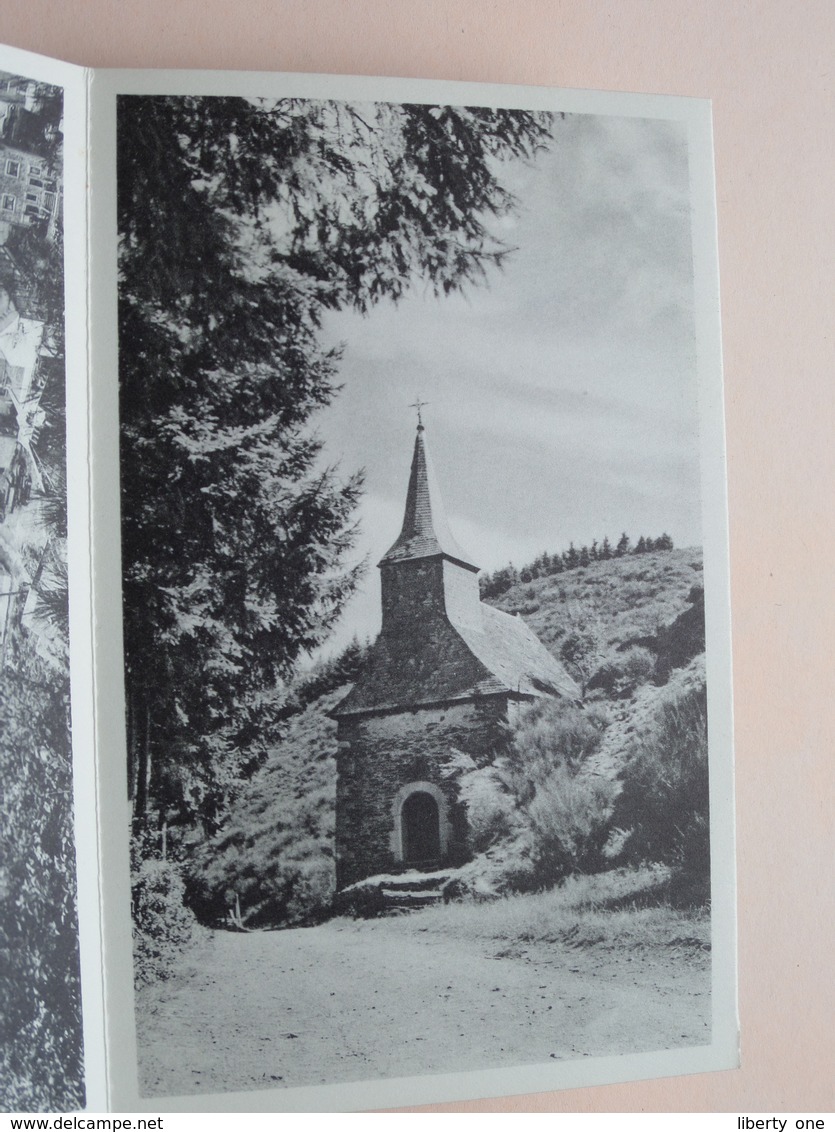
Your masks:
{"label": "cut-off black-and-white photograph strip along the left edge", "polygon": [[0,71],[0,1108],[84,1104],[67,573],[63,91]]}

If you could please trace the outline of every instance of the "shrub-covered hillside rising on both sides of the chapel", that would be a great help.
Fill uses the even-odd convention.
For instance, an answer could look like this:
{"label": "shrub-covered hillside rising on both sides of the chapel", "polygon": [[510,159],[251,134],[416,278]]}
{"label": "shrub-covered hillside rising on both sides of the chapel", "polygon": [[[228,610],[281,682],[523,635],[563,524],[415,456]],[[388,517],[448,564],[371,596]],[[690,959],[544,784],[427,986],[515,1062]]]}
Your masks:
{"label": "shrub-covered hillside rising on both sides of the chapel", "polygon": [[[571,873],[652,863],[668,869],[668,895],[704,902],[700,550],[600,558],[528,581],[523,573],[491,603],[525,618],[577,678],[584,700],[533,704],[494,766],[450,764],[474,833],[468,877],[497,892],[530,891]],[[354,642],[298,679],[282,740],[221,829],[208,838],[192,829],[179,847],[172,841],[181,865],[137,861],[140,972],[152,977],[164,962],[165,941],[152,924],[161,899],[190,909],[173,917],[172,943],[193,929],[191,911],[204,924],[239,927],[330,914],[336,724],[328,712],[367,649]]]}

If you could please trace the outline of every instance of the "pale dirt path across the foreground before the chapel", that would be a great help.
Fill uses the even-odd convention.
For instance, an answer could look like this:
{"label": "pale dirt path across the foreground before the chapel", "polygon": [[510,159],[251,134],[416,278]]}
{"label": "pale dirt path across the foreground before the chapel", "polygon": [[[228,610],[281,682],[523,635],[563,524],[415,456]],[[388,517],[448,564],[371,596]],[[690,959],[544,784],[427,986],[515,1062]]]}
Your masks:
{"label": "pale dirt path across the foreground before the chapel", "polygon": [[419,918],[214,933],[139,996],[148,1097],[533,1064],[709,1040],[706,957],[490,944]]}

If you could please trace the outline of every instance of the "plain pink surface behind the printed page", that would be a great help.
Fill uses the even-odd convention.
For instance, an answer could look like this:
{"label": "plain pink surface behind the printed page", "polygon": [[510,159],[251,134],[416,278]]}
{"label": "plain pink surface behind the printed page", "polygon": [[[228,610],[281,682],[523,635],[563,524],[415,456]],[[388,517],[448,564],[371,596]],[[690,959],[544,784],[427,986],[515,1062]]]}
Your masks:
{"label": "plain pink surface behind the printed page", "polygon": [[742,1067],[438,1107],[835,1108],[832,0],[3,0],[0,41],[101,67],[713,100]]}

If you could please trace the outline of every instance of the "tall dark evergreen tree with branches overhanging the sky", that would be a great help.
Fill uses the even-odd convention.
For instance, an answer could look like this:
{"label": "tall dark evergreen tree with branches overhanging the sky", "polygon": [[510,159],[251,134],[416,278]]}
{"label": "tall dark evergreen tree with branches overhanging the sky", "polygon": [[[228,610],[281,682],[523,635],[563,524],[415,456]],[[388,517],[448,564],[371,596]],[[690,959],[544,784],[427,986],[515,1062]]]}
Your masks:
{"label": "tall dark evergreen tree with branches overhanging the sky", "polygon": [[[210,834],[327,636],[361,477],[310,431],[321,315],[477,282],[498,162],[546,115],[229,97],[118,105],[122,556],[131,789]],[[277,691],[276,691],[277,689]]]}

